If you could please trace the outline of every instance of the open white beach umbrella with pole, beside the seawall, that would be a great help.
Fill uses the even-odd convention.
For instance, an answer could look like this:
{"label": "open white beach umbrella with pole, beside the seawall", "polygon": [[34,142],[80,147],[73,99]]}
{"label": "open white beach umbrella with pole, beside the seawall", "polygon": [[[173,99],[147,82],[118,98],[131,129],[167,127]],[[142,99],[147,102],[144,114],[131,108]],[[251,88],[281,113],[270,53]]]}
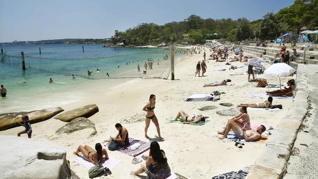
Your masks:
{"label": "open white beach umbrella with pole, beside the seawall", "polygon": [[[295,72],[295,68],[285,64],[285,63],[276,63],[268,67],[264,74],[268,77],[279,77],[279,84],[281,86],[280,77],[287,77]],[[281,89],[281,87],[280,87]]]}

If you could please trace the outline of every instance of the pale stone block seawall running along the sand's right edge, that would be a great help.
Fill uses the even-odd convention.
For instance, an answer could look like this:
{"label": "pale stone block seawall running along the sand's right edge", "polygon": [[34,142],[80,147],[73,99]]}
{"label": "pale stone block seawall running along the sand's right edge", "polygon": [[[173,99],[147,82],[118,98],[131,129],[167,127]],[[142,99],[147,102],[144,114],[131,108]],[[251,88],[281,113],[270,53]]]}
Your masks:
{"label": "pale stone block seawall running along the sand's right edge", "polygon": [[255,161],[246,179],[280,179],[287,170],[287,161],[297,132],[307,115],[308,85],[303,64],[298,64],[293,105],[282,118],[262,155]]}

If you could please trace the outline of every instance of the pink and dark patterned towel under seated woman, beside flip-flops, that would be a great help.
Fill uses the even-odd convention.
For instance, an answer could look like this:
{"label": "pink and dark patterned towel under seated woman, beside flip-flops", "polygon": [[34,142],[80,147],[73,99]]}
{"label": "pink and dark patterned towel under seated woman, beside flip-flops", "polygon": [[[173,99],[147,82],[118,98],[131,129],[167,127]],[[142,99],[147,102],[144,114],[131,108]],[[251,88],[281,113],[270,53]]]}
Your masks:
{"label": "pink and dark patterned towel under seated woman, beside flip-flops", "polygon": [[[127,154],[129,156],[136,157],[150,149],[150,142],[144,142],[141,140],[137,140],[135,138],[129,138],[129,143],[129,146],[119,147],[117,151]],[[136,143],[140,144],[140,146],[137,149],[134,148],[134,146],[136,146],[134,144]],[[108,144],[105,144],[105,146],[108,146]],[[132,150],[131,147],[133,147],[135,150]]]}

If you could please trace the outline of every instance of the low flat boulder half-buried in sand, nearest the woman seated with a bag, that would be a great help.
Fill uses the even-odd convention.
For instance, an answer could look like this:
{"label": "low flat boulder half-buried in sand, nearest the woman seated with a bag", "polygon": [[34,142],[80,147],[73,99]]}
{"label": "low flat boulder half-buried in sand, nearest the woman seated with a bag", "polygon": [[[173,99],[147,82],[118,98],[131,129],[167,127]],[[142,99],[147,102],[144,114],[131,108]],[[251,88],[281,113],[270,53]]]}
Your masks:
{"label": "low flat boulder half-buried in sand, nearest the woman seated with a bag", "polygon": [[69,134],[83,129],[89,129],[91,131],[89,132],[90,136],[97,134],[95,124],[85,117],[78,117],[71,120],[68,124],[56,130],[56,134]]}

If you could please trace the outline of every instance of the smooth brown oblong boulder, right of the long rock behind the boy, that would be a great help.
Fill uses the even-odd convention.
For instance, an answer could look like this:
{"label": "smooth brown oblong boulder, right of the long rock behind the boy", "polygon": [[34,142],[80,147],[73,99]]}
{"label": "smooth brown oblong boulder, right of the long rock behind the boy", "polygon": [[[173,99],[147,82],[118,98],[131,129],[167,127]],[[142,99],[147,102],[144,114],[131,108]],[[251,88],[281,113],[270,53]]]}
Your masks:
{"label": "smooth brown oblong boulder, right of the long rock behind the boy", "polygon": [[69,122],[77,117],[86,117],[86,118],[91,117],[98,111],[99,111],[98,107],[95,104],[90,104],[87,106],[76,108],[68,112],[61,113],[55,116],[54,118],[64,122]]}

